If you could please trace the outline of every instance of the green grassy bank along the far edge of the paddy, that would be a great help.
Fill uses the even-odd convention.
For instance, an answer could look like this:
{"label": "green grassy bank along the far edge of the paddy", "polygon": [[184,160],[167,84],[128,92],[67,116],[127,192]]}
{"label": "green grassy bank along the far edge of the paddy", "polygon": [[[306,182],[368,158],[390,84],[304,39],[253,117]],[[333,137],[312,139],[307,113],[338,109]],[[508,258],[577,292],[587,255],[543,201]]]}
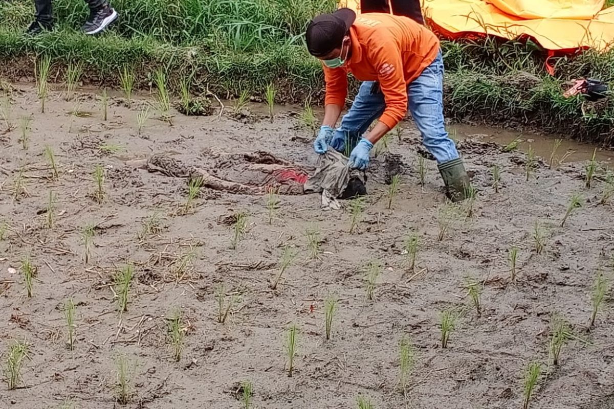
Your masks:
{"label": "green grassy bank along the far edge of the paddy", "polygon": [[[317,61],[301,33],[309,18],[335,8],[332,0],[115,0],[120,21],[101,37],[76,31],[87,17],[84,3],[54,2],[56,29],[36,38],[22,35],[32,18],[31,1],[0,3],[0,73],[31,77],[36,55],[50,55],[55,78],[82,61],[86,82],[117,87],[124,66],[149,86],[154,68],[171,78],[195,73],[198,91],[227,97],[250,90],[261,95],[270,82],[279,102],[322,96]],[[564,99],[565,82],[589,76],[610,82],[614,53],[588,52],[553,58],[546,74],[543,53],[532,45],[484,40],[442,42],[446,64],[446,114],[455,120],[518,124],[563,132],[604,145],[614,143],[614,104],[581,97]],[[53,76],[52,76],[53,77]]]}

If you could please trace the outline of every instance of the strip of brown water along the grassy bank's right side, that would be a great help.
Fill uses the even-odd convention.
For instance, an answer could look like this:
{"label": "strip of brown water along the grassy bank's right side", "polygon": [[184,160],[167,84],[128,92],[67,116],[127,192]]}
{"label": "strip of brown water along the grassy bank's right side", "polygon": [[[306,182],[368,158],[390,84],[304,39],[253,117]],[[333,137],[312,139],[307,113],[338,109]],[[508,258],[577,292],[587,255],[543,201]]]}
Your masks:
{"label": "strip of brown water along the grassy bank's right side", "polygon": [[595,155],[597,161],[602,162],[602,164],[607,167],[614,167],[614,151],[605,150],[589,143],[581,143],[576,140],[567,139],[563,136],[523,134],[520,132],[507,131],[506,129],[470,126],[464,124],[454,124],[448,126],[448,132],[450,136],[454,137],[455,139],[480,139],[483,140],[483,142],[495,142],[502,146],[507,145],[516,138],[519,138],[522,141],[518,145],[519,151],[526,153],[530,146],[534,149],[537,156],[541,156],[546,160],[550,158],[554,140],[562,139],[561,146],[557,150],[557,156],[560,158],[565,154],[565,152],[573,151],[573,153],[570,153],[570,155],[565,158],[565,162],[588,161],[593,156],[594,149],[597,148],[597,153]]}

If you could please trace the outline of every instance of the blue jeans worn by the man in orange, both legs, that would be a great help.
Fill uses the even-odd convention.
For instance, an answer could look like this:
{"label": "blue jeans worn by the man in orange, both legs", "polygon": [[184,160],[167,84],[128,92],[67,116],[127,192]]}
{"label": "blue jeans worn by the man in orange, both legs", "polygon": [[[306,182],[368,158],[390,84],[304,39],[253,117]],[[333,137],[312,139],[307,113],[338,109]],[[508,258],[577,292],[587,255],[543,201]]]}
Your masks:
{"label": "blue jeans worn by the man in orange, both legs", "polygon": [[[373,81],[365,81],[354,99],[352,107],[341,119],[333,141],[349,142],[351,151],[370,124],[381,117],[386,108],[383,93],[371,95]],[[416,127],[422,134],[422,143],[435,156],[437,163],[459,157],[454,141],[448,137],[443,123],[443,58],[441,53],[422,74],[407,86],[408,105]],[[335,142],[332,145],[336,145]],[[339,145],[338,145],[339,146]]]}

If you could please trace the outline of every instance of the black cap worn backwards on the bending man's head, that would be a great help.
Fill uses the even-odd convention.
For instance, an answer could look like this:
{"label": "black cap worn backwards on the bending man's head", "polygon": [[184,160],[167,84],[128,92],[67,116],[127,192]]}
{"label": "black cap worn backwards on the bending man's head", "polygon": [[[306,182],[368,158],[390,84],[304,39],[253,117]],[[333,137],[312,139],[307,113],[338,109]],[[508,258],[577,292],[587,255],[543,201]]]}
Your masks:
{"label": "black cap worn backwards on the bending man's head", "polygon": [[322,14],[311,20],[305,36],[309,54],[322,57],[341,47],[343,37],[356,20],[352,9],[339,9],[330,14]]}

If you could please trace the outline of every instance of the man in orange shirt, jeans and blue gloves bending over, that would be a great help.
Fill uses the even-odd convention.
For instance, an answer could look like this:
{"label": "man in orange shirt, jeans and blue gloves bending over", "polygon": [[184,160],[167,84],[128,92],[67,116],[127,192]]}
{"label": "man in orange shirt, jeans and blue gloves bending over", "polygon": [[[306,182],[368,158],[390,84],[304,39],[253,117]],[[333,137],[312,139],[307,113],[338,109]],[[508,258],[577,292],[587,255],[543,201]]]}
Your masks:
{"label": "man in orange shirt, jeans and blue gloves bending over", "polygon": [[[435,34],[408,17],[363,13],[357,18],[353,10],[339,9],[314,18],[306,40],[309,53],[322,60],[326,80],[316,153],[324,154],[328,146],[351,150],[351,166],[366,169],[373,145],[409,106],[422,143],[437,159],[448,196],[453,201],[467,197],[469,178],[444,126],[443,59]],[[341,126],[333,129],[348,94],[348,72],[363,82]]]}

